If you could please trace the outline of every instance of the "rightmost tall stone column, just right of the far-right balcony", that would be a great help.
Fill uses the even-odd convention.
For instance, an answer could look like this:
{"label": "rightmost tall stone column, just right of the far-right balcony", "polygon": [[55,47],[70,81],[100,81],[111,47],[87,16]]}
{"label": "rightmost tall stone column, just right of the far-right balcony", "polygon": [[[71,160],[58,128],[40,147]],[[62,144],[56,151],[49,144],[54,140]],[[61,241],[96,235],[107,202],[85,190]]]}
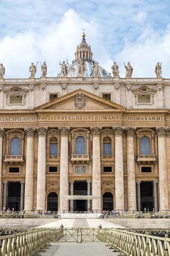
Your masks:
{"label": "rightmost tall stone column, just right of the far-right balcony", "polygon": [[169,210],[168,204],[168,183],[167,183],[167,154],[165,144],[165,134],[168,131],[167,127],[156,128],[158,135],[158,167],[159,167],[159,211]]}

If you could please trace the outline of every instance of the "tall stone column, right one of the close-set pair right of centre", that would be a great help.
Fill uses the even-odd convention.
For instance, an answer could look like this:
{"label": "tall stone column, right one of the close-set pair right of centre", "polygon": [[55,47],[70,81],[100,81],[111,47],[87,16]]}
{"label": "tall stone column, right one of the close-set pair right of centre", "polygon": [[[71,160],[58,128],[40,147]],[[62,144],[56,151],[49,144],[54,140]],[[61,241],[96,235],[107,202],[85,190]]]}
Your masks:
{"label": "tall stone column, right one of the close-set pair right of centre", "polygon": [[136,180],[135,180],[135,160],[133,135],[136,128],[127,127],[127,202],[128,211],[136,211]]}

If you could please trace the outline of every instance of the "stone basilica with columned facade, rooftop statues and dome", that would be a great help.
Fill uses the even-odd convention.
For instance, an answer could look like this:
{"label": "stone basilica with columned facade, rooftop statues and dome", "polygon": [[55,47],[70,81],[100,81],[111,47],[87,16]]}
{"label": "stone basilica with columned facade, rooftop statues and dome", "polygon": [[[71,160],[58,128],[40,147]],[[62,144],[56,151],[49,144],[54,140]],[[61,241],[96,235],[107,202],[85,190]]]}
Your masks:
{"label": "stone basilica with columned facade, rooftop statues and dome", "polygon": [[29,79],[0,77],[1,209],[57,211],[62,195],[101,195],[102,209],[169,210],[170,79],[131,78],[130,64],[112,77],[92,57],[83,34],[57,77],[45,63],[40,79],[34,64]]}

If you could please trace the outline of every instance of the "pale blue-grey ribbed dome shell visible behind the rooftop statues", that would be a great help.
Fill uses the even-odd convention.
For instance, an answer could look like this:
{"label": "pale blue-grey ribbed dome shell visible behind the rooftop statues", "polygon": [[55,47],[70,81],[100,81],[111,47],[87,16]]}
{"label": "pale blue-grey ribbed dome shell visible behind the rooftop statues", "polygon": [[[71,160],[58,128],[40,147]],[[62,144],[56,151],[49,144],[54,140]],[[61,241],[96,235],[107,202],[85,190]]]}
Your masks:
{"label": "pale blue-grey ribbed dome shell visible behind the rooftop statues", "polygon": [[[85,72],[83,73],[83,77],[93,77],[93,69],[92,69],[93,62],[85,61]],[[100,74],[99,77],[111,77],[111,75],[106,71],[103,67],[100,67]],[[91,74],[92,73],[92,74]],[[61,72],[57,75],[57,77],[61,76]],[[78,63],[74,62],[73,64],[68,66],[68,74],[67,77],[77,77],[78,76]]]}

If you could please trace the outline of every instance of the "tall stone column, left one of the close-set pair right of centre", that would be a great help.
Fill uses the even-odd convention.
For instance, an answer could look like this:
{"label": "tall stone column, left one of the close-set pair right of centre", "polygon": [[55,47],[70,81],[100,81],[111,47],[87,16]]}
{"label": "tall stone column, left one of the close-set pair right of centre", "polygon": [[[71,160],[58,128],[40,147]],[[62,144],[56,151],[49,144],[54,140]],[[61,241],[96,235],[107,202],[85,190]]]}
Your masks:
{"label": "tall stone column, left one of the close-set pair right of centre", "polygon": [[123,174],[123,146],[122,134],[125,127],[113,126],[115,135],[115,207],[124,210],[124,174]]}

